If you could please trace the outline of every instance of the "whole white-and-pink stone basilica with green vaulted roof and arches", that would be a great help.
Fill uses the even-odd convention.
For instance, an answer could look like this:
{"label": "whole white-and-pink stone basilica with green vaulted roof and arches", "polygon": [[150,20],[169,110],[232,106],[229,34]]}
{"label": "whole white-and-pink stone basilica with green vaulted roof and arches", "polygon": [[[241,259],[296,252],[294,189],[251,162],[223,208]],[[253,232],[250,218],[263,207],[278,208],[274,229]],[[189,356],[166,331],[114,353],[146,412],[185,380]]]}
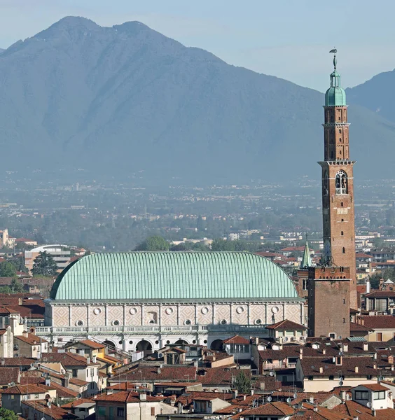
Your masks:
{"label": "whole white-and-pink stone basilica with green vaulted roof and arches", "polygon": [[97,253],[57,277],[36,334],[55,346],[90,337],[123,351],[216,348],[236,334],[268,337],[265,326],[284,319],[305,324],[303,304],[289,276],[261,255]]}

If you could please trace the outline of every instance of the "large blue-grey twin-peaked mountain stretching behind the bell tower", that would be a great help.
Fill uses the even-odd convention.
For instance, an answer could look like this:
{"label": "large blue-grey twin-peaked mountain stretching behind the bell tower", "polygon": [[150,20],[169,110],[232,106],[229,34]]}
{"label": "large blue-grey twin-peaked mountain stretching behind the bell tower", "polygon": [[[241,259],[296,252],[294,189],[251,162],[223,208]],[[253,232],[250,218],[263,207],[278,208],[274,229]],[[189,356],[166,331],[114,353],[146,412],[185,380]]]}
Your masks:
{"label": "large blue-grey twin-peaked mountain stretching behind the bell tower", "polygon": [[[2,52],[0,75],[3,171],[189,184],[320,176],[323,94],[140,22],[64,18]],[[395,124],[362,106],[349,120],[357,176],[389,177]]]}

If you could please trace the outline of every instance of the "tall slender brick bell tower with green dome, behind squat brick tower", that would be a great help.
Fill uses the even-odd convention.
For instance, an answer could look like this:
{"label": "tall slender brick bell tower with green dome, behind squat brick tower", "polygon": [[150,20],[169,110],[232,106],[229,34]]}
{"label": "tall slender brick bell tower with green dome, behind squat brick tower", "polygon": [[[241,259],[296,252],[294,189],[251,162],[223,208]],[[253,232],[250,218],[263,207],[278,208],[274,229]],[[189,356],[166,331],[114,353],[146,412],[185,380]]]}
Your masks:
{"label": "tall slender brick bell tower with green dome, behind squat brick tower", "polygon": [[357,309],[354,228],[354,161],[349,158],[349,123],[345,91],[336,70],[336,50],[331,87],[325,94],[322,216],[324,266],[349,267],[349,304]]}

